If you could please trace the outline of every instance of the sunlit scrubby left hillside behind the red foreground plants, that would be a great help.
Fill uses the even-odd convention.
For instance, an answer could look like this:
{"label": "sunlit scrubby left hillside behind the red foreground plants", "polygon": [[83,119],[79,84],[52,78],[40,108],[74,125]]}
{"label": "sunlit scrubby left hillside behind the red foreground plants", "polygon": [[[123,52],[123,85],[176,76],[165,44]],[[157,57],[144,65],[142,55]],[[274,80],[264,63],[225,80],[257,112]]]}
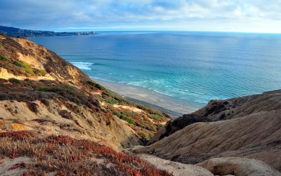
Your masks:
{"label": "sunlit scrubby left hillside behind the red foreground plants", "polygon": [[[22,155],[22,150],[29,150],[28,145],[34,144],[11,150],[14,135],[28,135],[31,143],[48,136],[67,135],[71,137],[67,140],[90,140],[92,145],[122,151],[145,143],[170,119],[167,114],[105,89],[43,46],[0,35],[0,137],[4,137],[0,152],[5,162],[7,156],[17,159],[15,153],[33,160],[37,157],[33,151]],[[23,132],[14,134],[16,131]],[[36,135],[30,136],[31,131]],[[8,139],[10,134],[12,141]],[[14,142],[27,142],[17,140]]]}

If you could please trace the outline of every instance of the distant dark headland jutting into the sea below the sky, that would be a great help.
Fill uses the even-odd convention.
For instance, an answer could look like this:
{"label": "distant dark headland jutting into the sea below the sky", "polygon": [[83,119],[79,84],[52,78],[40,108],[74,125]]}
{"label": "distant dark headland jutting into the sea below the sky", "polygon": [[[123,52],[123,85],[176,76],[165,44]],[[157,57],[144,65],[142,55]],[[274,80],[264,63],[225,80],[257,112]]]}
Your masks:
{"label": "distant dark headland jutting into the sea below the sky", "polygon": [[96,35],[96,32],[54,32],[54,31],[34,31],[19,28],[0,26],[0,33],[12,37],[50,37],[50,36],[87,36]]}

